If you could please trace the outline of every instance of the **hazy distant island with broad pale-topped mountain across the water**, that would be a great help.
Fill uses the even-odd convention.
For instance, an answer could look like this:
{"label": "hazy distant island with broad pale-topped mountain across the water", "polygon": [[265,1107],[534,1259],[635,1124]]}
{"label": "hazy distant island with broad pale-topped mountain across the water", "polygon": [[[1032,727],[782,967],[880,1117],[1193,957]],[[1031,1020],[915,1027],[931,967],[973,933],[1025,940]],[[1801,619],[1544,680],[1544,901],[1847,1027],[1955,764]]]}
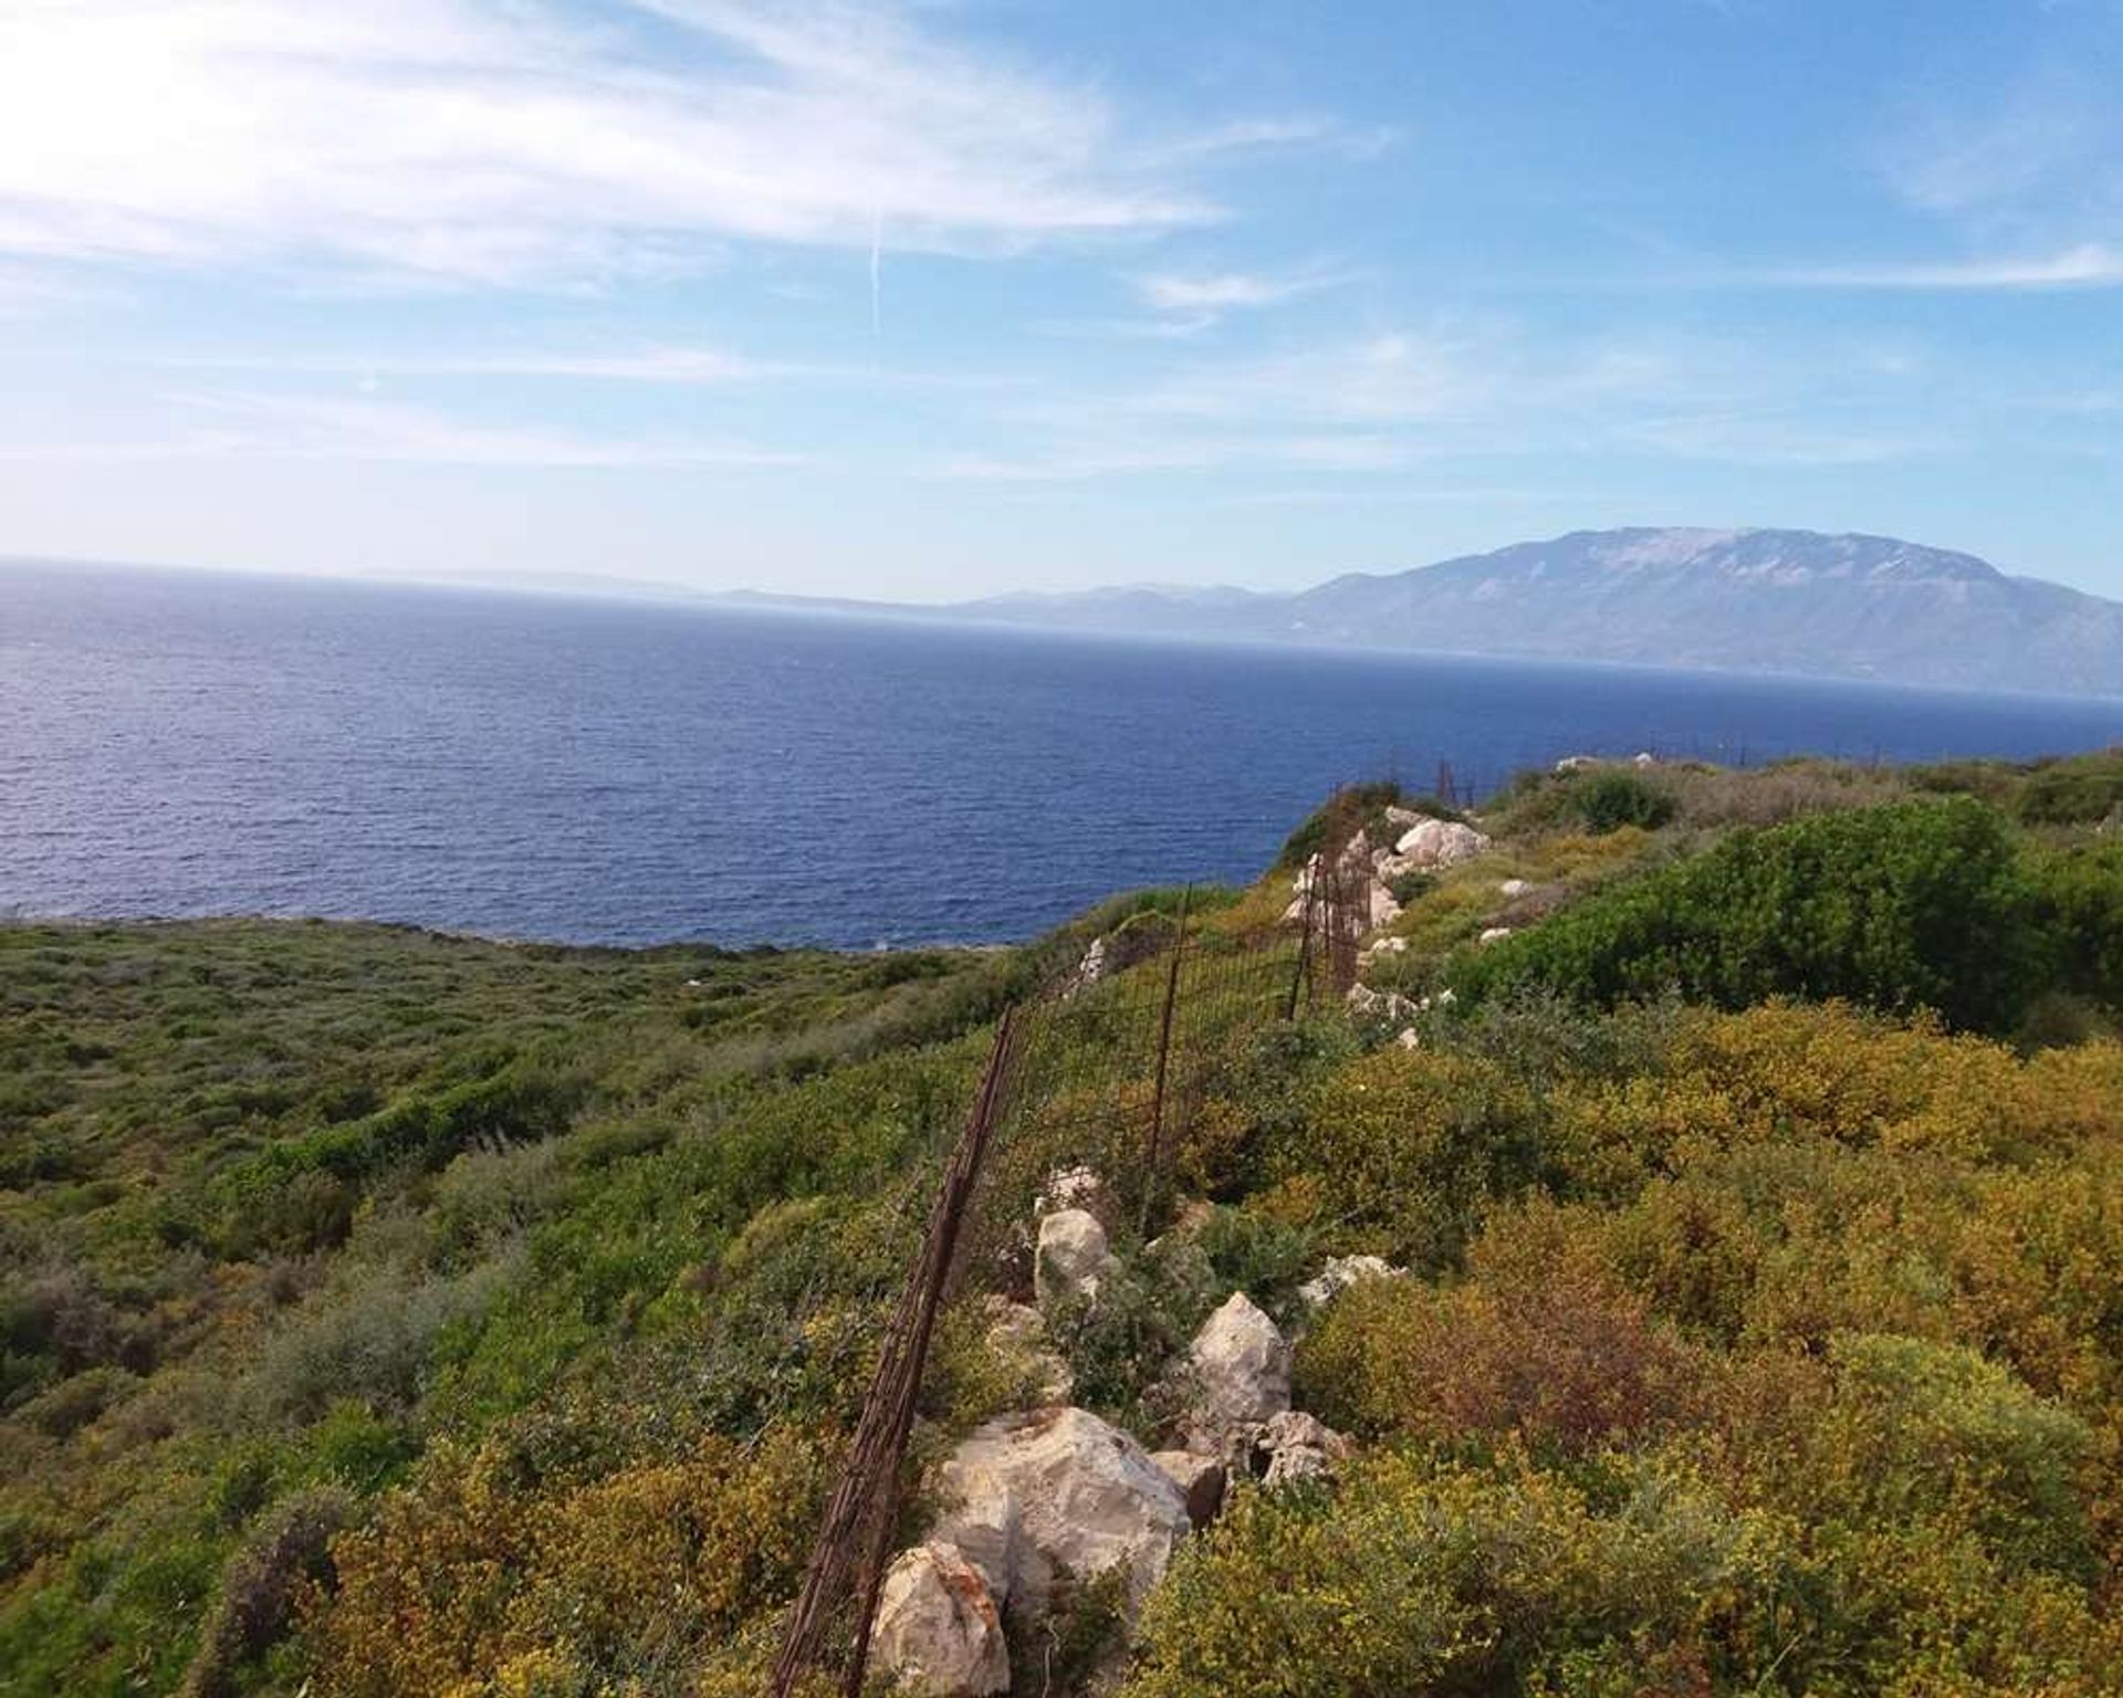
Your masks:
{"label": "hazy distant island with broad pale-topped mountain across the water", "polygon": [[2123,696],[2123,603],[1974,554],[1819,531],[1573,531],[1295,594],[1163,584],[943,607],[754,605],[1068,630],[1616,660],[1962,690]]}

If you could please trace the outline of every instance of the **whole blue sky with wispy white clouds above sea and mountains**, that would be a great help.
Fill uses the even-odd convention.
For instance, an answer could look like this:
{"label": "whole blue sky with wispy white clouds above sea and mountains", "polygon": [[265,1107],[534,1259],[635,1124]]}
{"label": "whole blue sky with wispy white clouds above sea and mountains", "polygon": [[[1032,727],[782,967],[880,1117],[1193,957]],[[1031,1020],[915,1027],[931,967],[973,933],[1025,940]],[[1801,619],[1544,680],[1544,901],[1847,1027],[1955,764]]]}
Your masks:
{"label": "whole blue sky with wispy white clouds above sea and mountains", "polygon": [[2123,0],[0,0],[0,552],[2123,594]]}

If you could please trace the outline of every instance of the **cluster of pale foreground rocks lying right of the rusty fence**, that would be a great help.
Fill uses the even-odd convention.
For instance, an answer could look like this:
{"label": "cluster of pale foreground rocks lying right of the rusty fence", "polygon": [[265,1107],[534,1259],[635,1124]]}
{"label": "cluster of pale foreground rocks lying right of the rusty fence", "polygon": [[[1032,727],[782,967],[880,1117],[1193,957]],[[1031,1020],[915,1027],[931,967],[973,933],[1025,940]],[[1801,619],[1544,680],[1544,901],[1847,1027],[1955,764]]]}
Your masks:
{"label": "cluster of pale foreground rocks lying right of the rusty fence", "polygon": [[[1004,1619],[1040,1619],[1066,1579],[1119,1575],[1134,1619],[1231,1482],[1318,1482],[1350,1452],[1348,1439],[1291,1407],[1291,1344],[1242,1290],[1210,1314],[1178,1369],[1176,1448],[1149,1452],[1068,1403],[1068,1367],[1045,1341],[1040,1310],[1095,1303],[1119,1271],[1087,1208],[1095,1201],[1095,1176],[1057,1174],[1036,1206],[1040,1307],[989,1299],[989,1341],[1051,1365],[1053,1401],[998,1416],[951,1452],[936,1475],[943,1511],[879,1590],[877,1664],[932,1698],[1006,1692]],[[1333,1259],[1299,1297],[1318,1305],[1357,1280],[1395,1274],[1378,1257]]]}

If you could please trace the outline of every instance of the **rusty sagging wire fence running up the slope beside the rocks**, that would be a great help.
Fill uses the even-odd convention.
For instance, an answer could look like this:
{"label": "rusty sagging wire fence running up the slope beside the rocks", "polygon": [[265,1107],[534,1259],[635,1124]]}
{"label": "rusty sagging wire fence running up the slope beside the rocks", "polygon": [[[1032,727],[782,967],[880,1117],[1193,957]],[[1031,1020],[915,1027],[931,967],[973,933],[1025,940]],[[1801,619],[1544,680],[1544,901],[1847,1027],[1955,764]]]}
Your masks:
{"label": "rusty sagging wire fence running up the slope beside the rocks", "polygon": [[1004,1010],[790,1609],[775,1698],[834,1683],[860,1698],[936,1318],[968,1286],[1030,1295],[1021,1223],[1042,1182],[1093,1169],[1146,1237],[1172,1203],[1176,1153],[1246,1046],[1344,1006],[1369,923],[1354,832],[1357,809],[1337,798],[1278,921],[1202,923],[1189,891],[1170,925],[1138,917]]}

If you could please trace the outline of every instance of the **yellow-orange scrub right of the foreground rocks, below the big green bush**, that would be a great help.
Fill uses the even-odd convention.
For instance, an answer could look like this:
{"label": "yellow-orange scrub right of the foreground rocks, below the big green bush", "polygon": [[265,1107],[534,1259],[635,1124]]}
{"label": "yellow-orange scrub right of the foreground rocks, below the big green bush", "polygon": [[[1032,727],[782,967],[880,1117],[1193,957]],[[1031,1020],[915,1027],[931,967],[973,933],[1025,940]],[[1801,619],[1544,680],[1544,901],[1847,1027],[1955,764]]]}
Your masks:
{"label": "yellow-orange scrub right of the foreground rocks, below the big green bush", "polygon": [[1548,1019],[1588,1061],[1478,1063],[1518,1155],[1418,1157],[1431,1208],[1386,1146],[1467,1057],[1323,1085],[1380,1163],[1310,1172],[1333,1235],[1433,1271],[1301,1344],[1371,1460],[1185,1552],[1132,1692],[2115,1690],[2123,1051],[1847,1006]]}

